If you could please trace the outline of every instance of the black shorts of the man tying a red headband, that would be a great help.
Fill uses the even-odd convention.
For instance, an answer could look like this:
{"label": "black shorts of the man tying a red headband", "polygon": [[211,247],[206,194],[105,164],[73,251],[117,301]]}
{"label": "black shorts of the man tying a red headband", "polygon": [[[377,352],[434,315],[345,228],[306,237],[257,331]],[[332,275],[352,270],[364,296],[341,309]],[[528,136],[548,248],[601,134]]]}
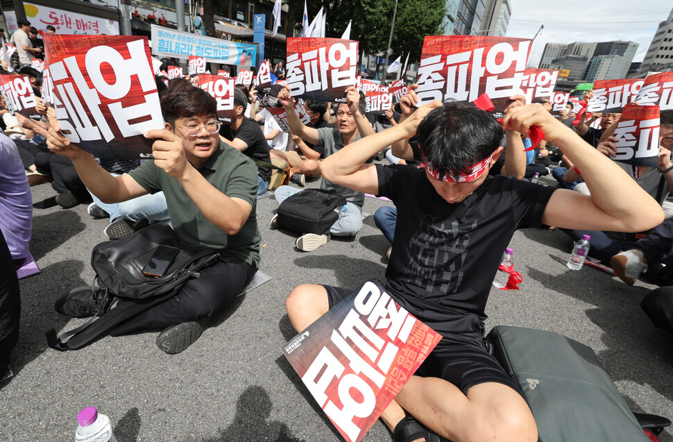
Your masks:
{"label": "black shorts of the man tying a red headband", "polygon": [[[323,285],[330,309],[352,290]],[[428,355],[414,375],[439,377],[457,386],[467,395],[470,387],[497,382],[521,394],[518,384],[507,374],[482,343],[482,333],[444,333],[443,338]]]}

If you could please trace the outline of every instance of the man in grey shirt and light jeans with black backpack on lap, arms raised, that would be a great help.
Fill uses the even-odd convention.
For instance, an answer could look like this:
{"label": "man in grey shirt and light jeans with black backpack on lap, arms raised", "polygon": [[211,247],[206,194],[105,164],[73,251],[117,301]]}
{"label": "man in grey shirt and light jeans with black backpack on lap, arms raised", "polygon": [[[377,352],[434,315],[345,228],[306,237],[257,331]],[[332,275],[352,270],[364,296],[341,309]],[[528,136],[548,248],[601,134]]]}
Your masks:
{"label": "man in grey shirt and light jeans with black backpack on lap, arms raised", "polygon": [[[339,103],[337,112],[337,127],[334,128],[309,128],[300,121],[294,112],[293,99],[290,96],[289,87],[278,94],[278,101],[285,108],[287,122],[293,134],[301,137],[306,142],[318,144],[325,153],[325,158],[340,151],[344,146],[356,142],[361,137],[374,134],[374,129],[364,117],[365,103],[354,86],[346,90],[346,103]],[[373,161],[373,158],[370,159]],[[330,235],[348,237],[355,236],[362,228],[362,206],[364,205],[364,194],[341,185],[330,182],[323,177],[320,185],[321,189],[334,192],[346,198],[346,210],[339,211],[339,219],[332,224]],[[280,186],[275,190],[275,200],[278,204],[282,203],[289,196],[294,194],[296,189],[290,186]],[[277,225],[276,216],[271,220],[271,226]],[[314,233],[305,233],[298,237],[296,246],[305,252],[311,252],[316,248],[327,243],[330,235],[316,235]]]}

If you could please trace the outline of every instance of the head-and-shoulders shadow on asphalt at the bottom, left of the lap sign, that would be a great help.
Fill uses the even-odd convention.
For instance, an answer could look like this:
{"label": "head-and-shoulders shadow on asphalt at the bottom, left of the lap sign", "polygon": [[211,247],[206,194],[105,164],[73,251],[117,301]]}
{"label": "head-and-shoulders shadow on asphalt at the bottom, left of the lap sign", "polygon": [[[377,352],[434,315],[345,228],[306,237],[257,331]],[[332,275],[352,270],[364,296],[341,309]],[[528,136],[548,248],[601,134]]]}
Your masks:
{"label": "head-and-shoulders shadow on asphalt at the bottom, left of the lap sign", "polygon": [[236,401],[234,421],[212,439],[205,442],[302,442],[292,435],[289,427],[278,420],[269,420],[271,416],[269,394],[257,385],[248,386]]}

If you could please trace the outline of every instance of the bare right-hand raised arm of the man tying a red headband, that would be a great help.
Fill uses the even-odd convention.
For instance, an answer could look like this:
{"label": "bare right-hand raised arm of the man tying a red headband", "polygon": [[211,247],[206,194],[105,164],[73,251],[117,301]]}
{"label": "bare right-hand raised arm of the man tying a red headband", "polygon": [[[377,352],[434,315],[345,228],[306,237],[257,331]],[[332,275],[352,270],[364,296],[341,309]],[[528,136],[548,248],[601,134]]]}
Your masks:
{"label": "bare right-hand raised arm of the man tying a red headband", "polygon": [[591,192],[585,196],[565,189],[556,190],[547,203],[543,223],[579,230],[640,232],[663,221],[663,210],[654,198],[542,106],[513,108],[502,124],[506,129],[521,133],[529,133],[530,126],[542,129],[547,140],[559,146],[581,171]]}

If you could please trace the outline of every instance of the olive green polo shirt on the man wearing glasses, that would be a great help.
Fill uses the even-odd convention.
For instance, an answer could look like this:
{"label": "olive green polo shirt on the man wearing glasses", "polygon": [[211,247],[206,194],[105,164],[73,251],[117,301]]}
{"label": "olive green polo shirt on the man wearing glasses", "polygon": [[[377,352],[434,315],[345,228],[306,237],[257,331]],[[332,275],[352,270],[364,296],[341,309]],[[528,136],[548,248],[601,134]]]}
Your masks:
{"label": "olive green polo shirt on the man wearing glasses", "polygon": [[128,174],[148,192],[163,191],[166,196],[173,230],[192,246],[232,253],[248,264],[259,266],[259,244],[262,237],[257,229],[257,164],[220,141],[216,151],[198,172],[210,184],[230,198],[241,198],[253,206],[248,221],[236,235],[227,235],[208,221],[191,201],[180,182],[160,167],[154,160],[146,161]]}

